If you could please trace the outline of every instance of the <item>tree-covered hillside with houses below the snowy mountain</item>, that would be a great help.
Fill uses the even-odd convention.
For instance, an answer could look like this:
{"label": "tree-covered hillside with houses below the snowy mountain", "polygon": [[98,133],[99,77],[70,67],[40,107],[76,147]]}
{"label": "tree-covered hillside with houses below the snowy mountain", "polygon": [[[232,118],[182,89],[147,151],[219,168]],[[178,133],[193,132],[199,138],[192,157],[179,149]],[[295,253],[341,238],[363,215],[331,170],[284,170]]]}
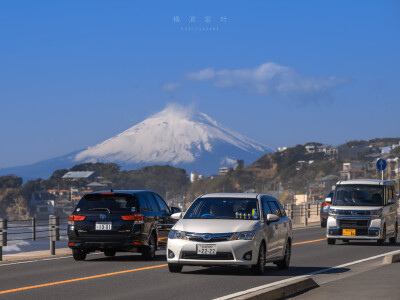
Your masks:
{"label": "tree-covered hillside with houses below the snowy mountain", "polygon": [[[294,195],[311,192],[315,187],[319,189],[319,194],[314,195],[313,199],[318,200],[322,199],[340,178],[344,162],[360,163],[368,158],[373,164],[375,157],[380,155],[376,152],[378,147],[397,145],[399,142],[400,138],[377,138],[369,141],[350,141],[341,145],[347,149],[361,147],[375,151],[363,152],[362,156],[353,159],[340,159],[340,155],[306,150],[306,146],[322,146],[320,143],[296,145],[265,154],[244,168],[230,169],[224,176],[214,175],[193,183],[181,168],[154,165],[136,170],[121,170],[121,167],[114,163],[78,164],[71,169],[55,170],[47,180],[38,178],[25,184],[20,177],[3,176],[0,177],[0,216],[14,219],[29,217],[34,213],[28,205],[32,193],[48,190],[70,191],[71,188],[83,193],[105,188],[153,190],[166,200],[180,199],[187,205],[202,194],[214,192],[269,193],[279,197],[282,203],[292,203]],[[399,157],[400,147],[394,148],[386,156]],[[90,181],[87,179],[64,179],[63,176],[70,171],[93,171],[96,181],[108,182],[109,185],[92,188],[89,187]],[[375,176],[375,173],[372,176]]]}

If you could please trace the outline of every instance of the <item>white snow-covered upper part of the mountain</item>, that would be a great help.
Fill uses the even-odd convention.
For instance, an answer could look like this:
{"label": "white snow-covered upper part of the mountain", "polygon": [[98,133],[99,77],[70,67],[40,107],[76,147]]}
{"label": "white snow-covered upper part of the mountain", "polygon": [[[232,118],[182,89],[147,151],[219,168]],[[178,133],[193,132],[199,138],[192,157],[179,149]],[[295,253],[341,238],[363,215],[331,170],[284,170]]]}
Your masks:
{"label": "white snow-covered upper part of the mountain", "polygon": [[[201,159],[203,154],[217,154],[215,150],[222,144],[230,145],[232,150],[220,153],[219,161],[242,158],[236,157],[240,151],[258,158],[260,154],[272,150],[219,124],[206,114],[174,105],[115,137],[79,152],[75,161],[187,165]],[[214,172],[217,168],[218,165],[215,165]]]}

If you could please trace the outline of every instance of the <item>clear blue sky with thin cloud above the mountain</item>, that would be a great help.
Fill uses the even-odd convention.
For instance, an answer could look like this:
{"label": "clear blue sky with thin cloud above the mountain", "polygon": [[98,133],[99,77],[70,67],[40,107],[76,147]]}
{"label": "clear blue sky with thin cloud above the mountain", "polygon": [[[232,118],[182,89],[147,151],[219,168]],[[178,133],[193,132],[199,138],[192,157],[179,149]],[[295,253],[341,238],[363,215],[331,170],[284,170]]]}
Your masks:
{"label": "clear blue sky with thin cloud above the mountain", "polygon": [[400,136],[399,1],[1,1],[0,168],[195,105],[272,147]]}

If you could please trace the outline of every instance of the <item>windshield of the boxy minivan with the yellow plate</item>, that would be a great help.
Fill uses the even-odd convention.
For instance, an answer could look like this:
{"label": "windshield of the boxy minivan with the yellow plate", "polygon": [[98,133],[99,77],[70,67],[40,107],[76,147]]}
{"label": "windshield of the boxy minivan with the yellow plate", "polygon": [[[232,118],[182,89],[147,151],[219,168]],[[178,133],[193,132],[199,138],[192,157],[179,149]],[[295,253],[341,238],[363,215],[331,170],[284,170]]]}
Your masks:
{"label": "windshield of the boxy minivan with the yellow plate", "polygon": [[382,186],[344,184],[336,188],[333,205],[336,206],[382,206]]}

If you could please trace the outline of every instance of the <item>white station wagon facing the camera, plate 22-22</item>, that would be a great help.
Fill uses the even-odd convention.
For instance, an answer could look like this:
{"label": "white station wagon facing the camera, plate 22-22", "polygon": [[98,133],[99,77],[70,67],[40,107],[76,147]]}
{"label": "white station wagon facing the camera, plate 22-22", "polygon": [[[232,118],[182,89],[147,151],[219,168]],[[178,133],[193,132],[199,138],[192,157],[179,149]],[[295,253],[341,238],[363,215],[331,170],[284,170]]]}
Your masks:
{"label": "white station wagon facing the camera, plate 22-22", "polygon": [[289,267],[292,222],[272,196],[207,194],[171,217],[180,220],[168,236],[170,272],[185,265],[248,266],[256,274],[267,262]]}

